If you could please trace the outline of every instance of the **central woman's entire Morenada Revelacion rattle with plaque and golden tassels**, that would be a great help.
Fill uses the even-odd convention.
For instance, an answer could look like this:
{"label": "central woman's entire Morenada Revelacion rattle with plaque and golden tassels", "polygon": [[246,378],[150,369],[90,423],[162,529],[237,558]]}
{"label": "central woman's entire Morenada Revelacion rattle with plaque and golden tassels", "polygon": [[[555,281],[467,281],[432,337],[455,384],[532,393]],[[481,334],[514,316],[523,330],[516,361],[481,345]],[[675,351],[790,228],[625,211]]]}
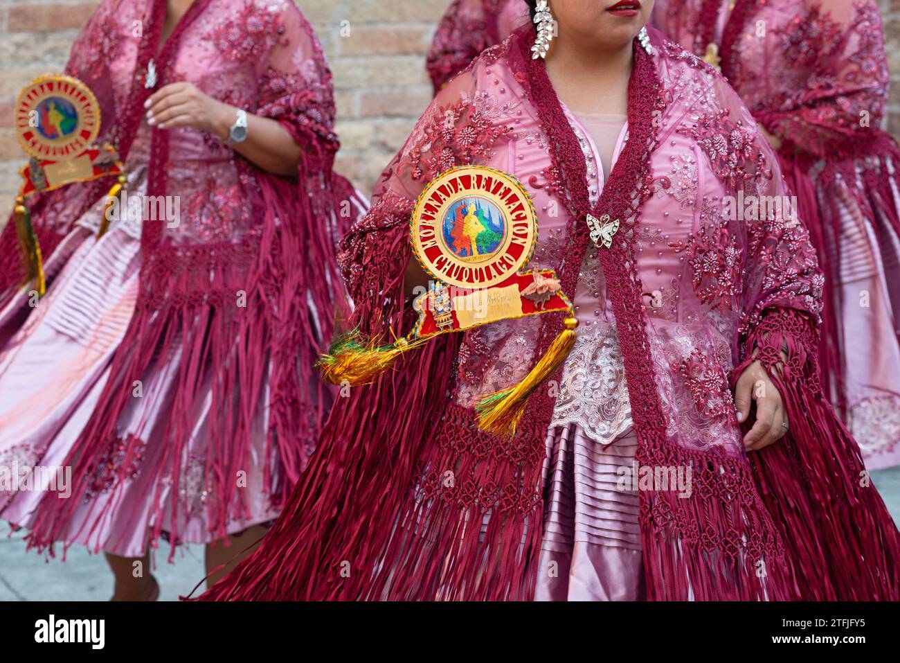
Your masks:
{"label": "central woman's entire Morenada Revelacion rattle with plaque and golden tassels", "polygon": [[524,186],[493,168],[464,166],[436,177],[410,220],[415,258],[431,277],[413,307],[419,318],[389,345],[345,334],[320,359],[332,384],[373,382],[404,353],[440,334],[542,313],[565,313],[563,331],[517,385],[484,395],[475,410],[484,431],[512,437],[527,400],[572,350],[578,322],[553,269],[529,268],[537,243],[535,206]]}

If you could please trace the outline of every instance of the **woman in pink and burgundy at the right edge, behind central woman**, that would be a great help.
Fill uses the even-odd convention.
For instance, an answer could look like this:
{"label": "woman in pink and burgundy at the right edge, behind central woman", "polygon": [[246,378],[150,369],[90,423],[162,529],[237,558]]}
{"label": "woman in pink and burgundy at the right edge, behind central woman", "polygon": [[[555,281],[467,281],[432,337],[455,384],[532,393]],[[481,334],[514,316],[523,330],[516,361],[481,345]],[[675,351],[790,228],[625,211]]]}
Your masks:
{"label": "woman in pink and burgundy at the right edge, behind central woman", "polygon": [[778,151],[825,274],[822,363],[866,467],[900,463],[900,150],[880,130],[876,0],[661,0],[654,23],[720,67]]}

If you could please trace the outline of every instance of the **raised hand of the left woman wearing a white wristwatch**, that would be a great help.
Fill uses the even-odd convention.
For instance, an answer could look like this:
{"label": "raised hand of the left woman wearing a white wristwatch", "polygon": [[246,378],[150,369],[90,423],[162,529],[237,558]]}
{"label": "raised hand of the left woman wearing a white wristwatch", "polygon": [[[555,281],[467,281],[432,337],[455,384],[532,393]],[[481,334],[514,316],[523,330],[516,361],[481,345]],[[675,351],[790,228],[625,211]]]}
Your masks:
{"label": "raised hand of the left woman wearing a white wristwatch", "polygon": [[191,83],[170,83],[147,100],[147,123],[160,129],[191,127],[222,141],[237,118],[237,109],[203,94]]}

